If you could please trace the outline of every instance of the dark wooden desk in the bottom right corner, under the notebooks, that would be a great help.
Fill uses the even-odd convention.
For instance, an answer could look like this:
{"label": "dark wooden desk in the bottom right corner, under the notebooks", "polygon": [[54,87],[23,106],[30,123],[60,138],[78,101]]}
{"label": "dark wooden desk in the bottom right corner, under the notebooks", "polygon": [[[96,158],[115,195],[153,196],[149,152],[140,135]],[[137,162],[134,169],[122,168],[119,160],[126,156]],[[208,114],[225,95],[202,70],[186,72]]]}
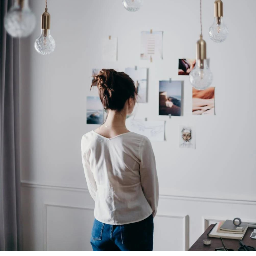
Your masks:
{"label": "dark wooden desk in the bottom right corner, under the notebooks", "polygon": [[[214,251],[216,248],[223,247],[221,239],[215,237],[207,237],[207,234],[212,229],[214,225],[210,225],[209,228],[201,235],[201,237],[191,246],[188,251]],[[243,237],[243,242],[245,245],[253,246],[256,248],[256,239],[251,239],[251,233],[253,232],[254,228],[248,228],[246,234]],[[204,240],[209,239],[211,240],[210,245],[204,245]],[[238,248],[241,247],[239,240],[235,239],[225,239],[223,238],[225,246],[229,249],[233,249],[234,251],[238,251]]]}

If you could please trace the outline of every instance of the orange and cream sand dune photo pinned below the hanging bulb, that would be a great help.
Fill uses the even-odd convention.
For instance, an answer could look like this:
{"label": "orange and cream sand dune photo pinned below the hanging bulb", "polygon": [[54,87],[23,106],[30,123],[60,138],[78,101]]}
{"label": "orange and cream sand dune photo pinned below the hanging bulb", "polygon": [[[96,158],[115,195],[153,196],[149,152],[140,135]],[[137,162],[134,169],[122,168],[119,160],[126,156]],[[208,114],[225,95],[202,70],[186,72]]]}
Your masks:
{"label": "orange and cream sand dune photo pinned below the hanging bulb", "polygon": [[193,88],[193,115],[215,115],[215,87]]}

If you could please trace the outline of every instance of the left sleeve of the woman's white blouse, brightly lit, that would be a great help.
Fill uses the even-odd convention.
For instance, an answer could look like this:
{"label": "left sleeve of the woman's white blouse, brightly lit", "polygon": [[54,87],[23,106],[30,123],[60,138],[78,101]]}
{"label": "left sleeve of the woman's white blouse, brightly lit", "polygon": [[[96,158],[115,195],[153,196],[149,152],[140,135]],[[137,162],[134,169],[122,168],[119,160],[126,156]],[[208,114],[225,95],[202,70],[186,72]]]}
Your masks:
{"label": "left sleeve of the woman's white blouse, brightly lit", "polygon": [[93,173],[91,171],[90,163],[87,159],[86,152],[84,152],[83,137],[81,140],[81,151],[82,151],[82,164],[83,164],[83,169],[84,169],[84,174],[85,174],[88,190],[89,190],[91,197],[95,201],[96,193],[97,193],[97,184],[93,177]]}

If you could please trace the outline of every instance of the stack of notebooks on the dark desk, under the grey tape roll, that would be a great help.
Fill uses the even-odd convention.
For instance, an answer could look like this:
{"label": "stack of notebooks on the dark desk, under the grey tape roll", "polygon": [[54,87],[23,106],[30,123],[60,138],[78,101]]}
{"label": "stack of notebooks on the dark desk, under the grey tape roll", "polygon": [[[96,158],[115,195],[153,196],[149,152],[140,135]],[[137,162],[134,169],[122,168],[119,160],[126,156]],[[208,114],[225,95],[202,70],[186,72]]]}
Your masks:
{"label": "stack of notebooks on the dark desk, under the grey tape roll", "polygon": [[247,222],[242,222],[242,224],[237,227],[233,224],[232,220],[226,220],[216,223],[214,228],[209,232],[208,236],[242,240],[247,229]]}

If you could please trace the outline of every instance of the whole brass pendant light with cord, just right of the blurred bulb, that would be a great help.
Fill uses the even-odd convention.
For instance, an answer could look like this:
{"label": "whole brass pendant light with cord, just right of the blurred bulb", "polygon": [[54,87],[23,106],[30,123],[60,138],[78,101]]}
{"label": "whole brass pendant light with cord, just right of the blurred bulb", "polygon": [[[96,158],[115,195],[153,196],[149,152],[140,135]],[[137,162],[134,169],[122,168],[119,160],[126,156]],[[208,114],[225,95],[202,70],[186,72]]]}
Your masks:
{"label": "whole brass pendant light with cord, just right of the blurred bulb", "polygon": [[45,0],[45,12],[42,14],[41,35],[35,41],[35,49],[42,55],[50,54],[55,50],[55,40],[50,34],[51,16],[48,13],[47,0]]}

